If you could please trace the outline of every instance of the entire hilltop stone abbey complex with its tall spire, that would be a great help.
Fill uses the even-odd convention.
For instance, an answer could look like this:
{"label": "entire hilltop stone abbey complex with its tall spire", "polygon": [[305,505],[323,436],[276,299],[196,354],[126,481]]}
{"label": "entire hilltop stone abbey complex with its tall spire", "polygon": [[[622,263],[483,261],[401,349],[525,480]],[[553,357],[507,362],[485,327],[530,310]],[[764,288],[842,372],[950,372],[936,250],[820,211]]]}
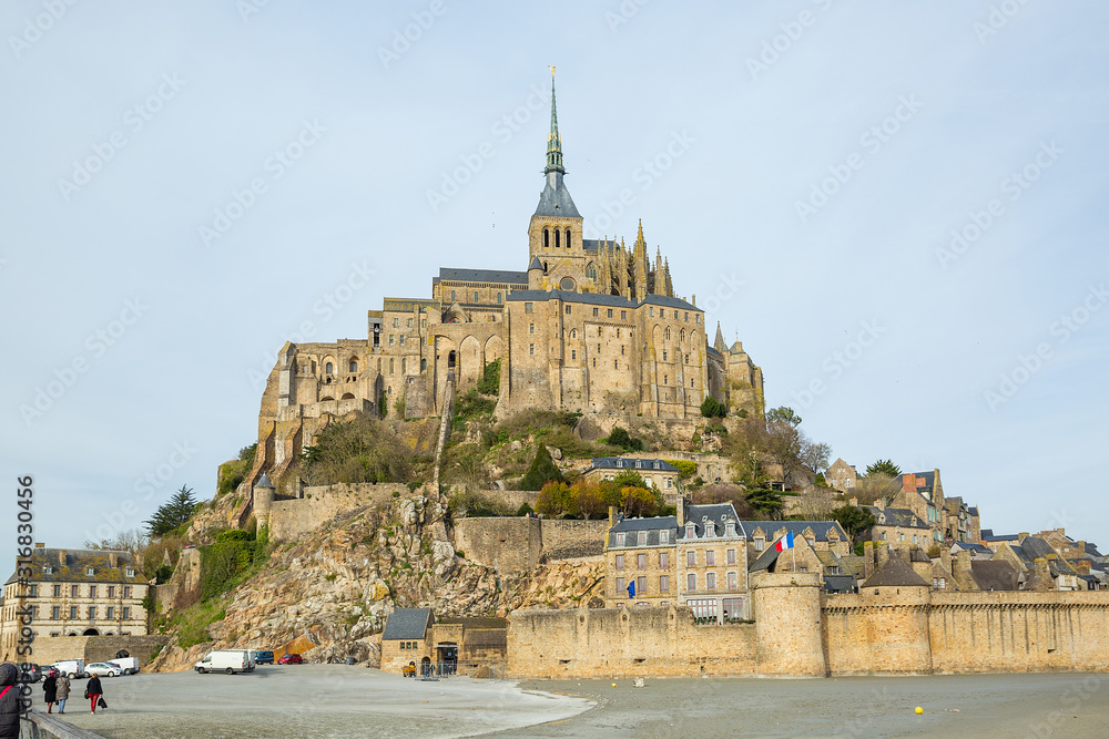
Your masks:
{"label": "entire hilltop stone abbey complex with its tall spire", "polygon": [[[271,462],[299,454],[330,418],[438,415],[448,384],[466,392],[500,360],[496,415],[532,407],[581,413],[700,418],[706,396],[762,412],[763,377],[743,346],[710,343],[696,297],[679,297],[652,261],[642,222],[624,240],[583,237],[567,189],[551,83],[551,124],[525,270],[439,268],[430,298],[385,298],[365,340],[286,343],[258,418]],[[400,402],[398,402],[400,401]],[[284,459],[283,459],[284,458]],[[287,464],[287,462],[286,462]]]}

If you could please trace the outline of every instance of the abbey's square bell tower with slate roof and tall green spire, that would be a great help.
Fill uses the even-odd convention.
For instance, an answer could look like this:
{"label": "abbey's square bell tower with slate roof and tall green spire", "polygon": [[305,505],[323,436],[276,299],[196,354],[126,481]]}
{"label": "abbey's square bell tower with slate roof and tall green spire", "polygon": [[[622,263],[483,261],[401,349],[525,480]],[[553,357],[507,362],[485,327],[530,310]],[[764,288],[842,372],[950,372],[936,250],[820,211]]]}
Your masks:
{"label": "abbey's square bell tower with slate roof and tall green spire", "polygon": [[578,213],[562,177],[562,137],[558,131],[554,104],[554,68],[551,66],[551,130],[547,136],[546,183],[539,206],[528,227],[529,261],[539,259],[543,267],[542,289],[581,291],[586,280],[586,250],[582,244],[583,218]]}

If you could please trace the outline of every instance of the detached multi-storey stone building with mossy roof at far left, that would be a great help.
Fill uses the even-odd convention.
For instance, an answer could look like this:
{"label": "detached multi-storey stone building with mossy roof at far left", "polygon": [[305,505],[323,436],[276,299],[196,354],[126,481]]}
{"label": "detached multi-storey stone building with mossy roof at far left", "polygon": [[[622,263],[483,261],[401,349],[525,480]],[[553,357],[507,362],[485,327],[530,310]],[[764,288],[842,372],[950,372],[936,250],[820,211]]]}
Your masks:
{"label": "detached multi-storey stone building with mossy roof at far left", "polygon": [[26,584],[13,573],[4,583],[0,653],[14,659],[27,625],[17,612],[31,609],[37,638],[145,636],[143,599],[150,585],[128,552],[55,550],[35,544]]}

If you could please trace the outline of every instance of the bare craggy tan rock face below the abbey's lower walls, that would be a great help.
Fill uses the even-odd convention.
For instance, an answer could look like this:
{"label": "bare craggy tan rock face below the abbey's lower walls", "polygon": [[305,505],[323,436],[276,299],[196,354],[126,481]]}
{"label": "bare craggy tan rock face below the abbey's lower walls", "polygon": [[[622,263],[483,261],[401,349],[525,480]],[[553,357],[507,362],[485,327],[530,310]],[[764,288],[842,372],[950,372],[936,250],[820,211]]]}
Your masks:
{"label": "bare craggy tan rock face below the abbey's lower walls", "polygon": [[[217,512],[213,511],[218,515]],[[313,661],[379,664],[380,632],[394,608],[491,616],[526,606],[577,606],[599,589],[598,562],[542,565],[500,576],[457,556],[435,499],[404,496],[336,516],[313,535],[278,544],[262,572],[228,594],[211,643],[176,640],[152,669],[189,669],[208,650],[299,651]]]}

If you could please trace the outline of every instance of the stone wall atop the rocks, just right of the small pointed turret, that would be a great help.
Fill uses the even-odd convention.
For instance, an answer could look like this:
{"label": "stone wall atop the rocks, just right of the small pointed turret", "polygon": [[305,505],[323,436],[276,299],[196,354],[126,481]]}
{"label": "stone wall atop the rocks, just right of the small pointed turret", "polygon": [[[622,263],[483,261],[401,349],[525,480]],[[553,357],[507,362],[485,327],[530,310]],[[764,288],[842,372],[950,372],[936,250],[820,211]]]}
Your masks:
{"label": "stone wall atop the rocks, just right of the small pointed turret", "polygon": [[[396,493],[397,495],[394,495]],[[338,483],[304,489],[304,497],[276,500],[269,509],[269,537],[288,541],[315,531],[336,514],[363,505],[388,505],[409,494],[400,483]]]}

